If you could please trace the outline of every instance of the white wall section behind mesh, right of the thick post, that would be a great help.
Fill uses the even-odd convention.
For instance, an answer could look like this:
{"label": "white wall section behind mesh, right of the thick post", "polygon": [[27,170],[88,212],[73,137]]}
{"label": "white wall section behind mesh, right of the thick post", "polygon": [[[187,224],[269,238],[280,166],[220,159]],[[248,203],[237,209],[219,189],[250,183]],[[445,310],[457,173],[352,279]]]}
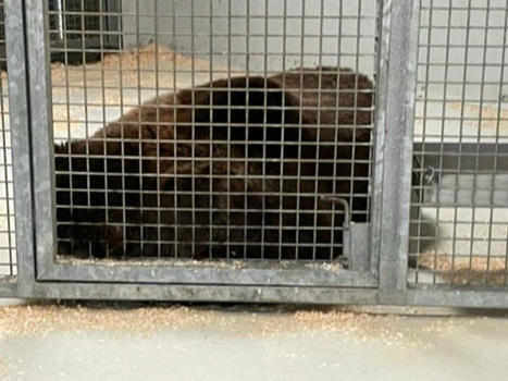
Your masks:
{"label": "white wall section behind mesh, right of the thick post", "polygon": [[[483,91],[484,101],[497,102],[499,86],[504,86],[501,93],[508,94],[508,49],[505,36],[507,1],[454,0],[449,11],[449,0],[432,0],[432,12],[429,11],[430,0],[420,1],[420,61],[431,64],[429,79],[443,83],[446,76],[449,83],[446,97],[449,99],[460,98],[464,90],[468,99],[479,100]],[[453,27],[448,28],[447,25]],[[445,48],[446,44],[449,46],[448,50]],[[425,72],[426,67],[421,65],[420,79],[426,78]],[[469,83],[466,88],[461,85],[464,79]],[[485,83],[483,88],[479,85],[480,82]],[[431,95],[443,97],[443,85],[428,86]],[[422,90],[419,89],[420,94],[423,94]]]}

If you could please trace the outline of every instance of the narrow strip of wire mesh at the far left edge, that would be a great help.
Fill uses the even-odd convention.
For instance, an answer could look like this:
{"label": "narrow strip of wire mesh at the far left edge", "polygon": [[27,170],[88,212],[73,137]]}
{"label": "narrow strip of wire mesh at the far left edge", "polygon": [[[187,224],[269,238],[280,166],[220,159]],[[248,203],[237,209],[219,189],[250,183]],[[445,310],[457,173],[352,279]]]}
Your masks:
{"label": "narrow strip of wire mesh at the far left edge", "polygon": [[0,280],[16,274],[11,131],[3,1],[0,1]]}

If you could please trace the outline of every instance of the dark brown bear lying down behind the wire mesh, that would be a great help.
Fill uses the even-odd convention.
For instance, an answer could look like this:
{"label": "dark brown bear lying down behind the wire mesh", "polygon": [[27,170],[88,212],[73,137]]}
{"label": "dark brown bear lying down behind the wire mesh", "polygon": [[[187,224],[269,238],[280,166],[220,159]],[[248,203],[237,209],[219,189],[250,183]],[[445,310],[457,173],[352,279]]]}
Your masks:
{"label": "dark brown bear lying down behind the wire mesh", "polygon": [[348,69],[165,94],[54,146],[60,255],[332,260],[369,219],[373,85]]}

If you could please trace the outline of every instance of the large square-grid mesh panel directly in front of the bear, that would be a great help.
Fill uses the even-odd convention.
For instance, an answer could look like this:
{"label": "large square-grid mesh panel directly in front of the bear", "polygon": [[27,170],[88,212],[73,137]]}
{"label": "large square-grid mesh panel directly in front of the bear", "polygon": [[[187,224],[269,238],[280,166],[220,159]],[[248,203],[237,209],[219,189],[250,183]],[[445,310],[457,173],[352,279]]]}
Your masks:
{"label": "large square-grid mesh panel directly in front of the bear", "polygon": [[78,13],[52,48],[60,255],[342,256],[331,196],[370,218],[377,1],[124,1],[100,49],[65,42]]}

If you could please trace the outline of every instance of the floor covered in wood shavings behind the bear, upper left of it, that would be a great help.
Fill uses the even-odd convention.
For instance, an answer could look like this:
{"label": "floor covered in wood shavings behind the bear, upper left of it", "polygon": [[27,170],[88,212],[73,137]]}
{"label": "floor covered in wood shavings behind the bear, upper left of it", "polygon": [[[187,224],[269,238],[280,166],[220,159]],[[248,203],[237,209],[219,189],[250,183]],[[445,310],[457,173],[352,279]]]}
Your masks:
{"label": "floor covered in wood shavings behind the bear, upper left of it", "polygon": [[211,67],[206,60],[175,53],[160,44],[109,54],[86,65],[52,63],[54,136],[89,136],[144,101],[224,77],[224,66]]}

